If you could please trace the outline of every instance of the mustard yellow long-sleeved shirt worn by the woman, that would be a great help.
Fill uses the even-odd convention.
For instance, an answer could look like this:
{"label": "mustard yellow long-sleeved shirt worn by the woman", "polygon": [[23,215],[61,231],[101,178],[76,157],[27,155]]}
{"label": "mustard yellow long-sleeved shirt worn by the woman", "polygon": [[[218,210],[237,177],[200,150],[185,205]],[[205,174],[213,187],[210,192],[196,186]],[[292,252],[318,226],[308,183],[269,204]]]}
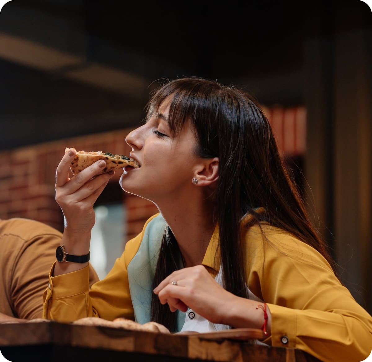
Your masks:
{"label": "mustard yellow long-sleeved shirt worn by the woman", "polygon": [[[89,291],[89,266],[51,277],[44,293],[43,317],[73,321],[99,316],[108,320],[134,319],[128,267],[138,253],[151,217],[140,235],[128,241],[107,277]],[[262,224],[246,230],[246,281],[272,315],[272,346],[297,348],[322,361],[362,361],[372,348],[372,317],[342,286],[325,258],[287,232]],[[209,242],[203,265],[214,276],[219,270],[218,228]],[[216,257],[217,255],[217,257]]]}

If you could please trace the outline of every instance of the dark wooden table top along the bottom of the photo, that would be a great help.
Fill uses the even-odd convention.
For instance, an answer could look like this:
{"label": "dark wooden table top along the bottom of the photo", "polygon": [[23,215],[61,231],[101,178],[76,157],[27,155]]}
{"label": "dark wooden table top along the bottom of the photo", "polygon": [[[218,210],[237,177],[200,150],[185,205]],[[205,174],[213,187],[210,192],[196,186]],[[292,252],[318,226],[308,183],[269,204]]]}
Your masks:
{"label": "dark wooden table top along the bottom of the photo", "polygon": [[0,348],[10,361],[315,362],[300,350],[249,340],[164,334],[58,322],[0,324]]}

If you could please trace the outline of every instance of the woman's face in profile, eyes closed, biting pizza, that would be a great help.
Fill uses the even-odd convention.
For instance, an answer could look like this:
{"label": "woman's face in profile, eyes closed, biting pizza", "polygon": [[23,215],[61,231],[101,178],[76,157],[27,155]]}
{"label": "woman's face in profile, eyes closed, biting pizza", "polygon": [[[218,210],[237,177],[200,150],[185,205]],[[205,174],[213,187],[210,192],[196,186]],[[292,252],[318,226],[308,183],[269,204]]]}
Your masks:
{"label": "woman's face in profile, eyes closed, biting pizza", "polygon": [[193,187],[193,171],[200,160],[194,152],[196,139],[189,122],[179,134],[171,135],[167,122],[170,101],[167,98],[158,113],[126,137],[132,147],[130,156],[141,167],[126,167],[120,180],[123,190],[156,204]]}

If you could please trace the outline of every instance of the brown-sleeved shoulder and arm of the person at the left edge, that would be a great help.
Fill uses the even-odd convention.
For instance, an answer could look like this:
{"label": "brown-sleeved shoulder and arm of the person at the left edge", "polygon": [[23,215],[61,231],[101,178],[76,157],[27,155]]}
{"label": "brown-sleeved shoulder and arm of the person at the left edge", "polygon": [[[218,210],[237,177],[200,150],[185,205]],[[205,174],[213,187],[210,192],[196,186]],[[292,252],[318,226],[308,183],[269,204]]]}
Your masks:
{"label": "brown-sleeved shoulder and arm of the person at the left edge", "polygon": [[[3,308],[5,312],[0,314],[0,323],[41,318],[42,294],[48,285],[48,270],[55,261],[55,249],[61,244],[62,234],[31,219],[9,219],[6,228],[2,250],[7,263],[2,282],[7,288],[9,308]],[[90,285],[98,280],[92,268]]]}

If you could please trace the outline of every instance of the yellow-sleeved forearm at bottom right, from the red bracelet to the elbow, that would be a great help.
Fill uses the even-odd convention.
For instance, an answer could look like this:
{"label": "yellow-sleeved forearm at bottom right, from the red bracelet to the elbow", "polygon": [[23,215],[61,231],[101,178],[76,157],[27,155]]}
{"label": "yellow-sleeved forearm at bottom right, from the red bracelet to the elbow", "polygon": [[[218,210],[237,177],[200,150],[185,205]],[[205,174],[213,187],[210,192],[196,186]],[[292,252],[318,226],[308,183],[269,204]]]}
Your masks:
{"label": "yellow-sleeved forearm at bottom right, from the red bracelet to the elbow", "polygon": [[325,362],[362,361],[371,353],[371,317],[357,305],[353,311],[268,306],[272,312],[272,346],[298,348]]}

